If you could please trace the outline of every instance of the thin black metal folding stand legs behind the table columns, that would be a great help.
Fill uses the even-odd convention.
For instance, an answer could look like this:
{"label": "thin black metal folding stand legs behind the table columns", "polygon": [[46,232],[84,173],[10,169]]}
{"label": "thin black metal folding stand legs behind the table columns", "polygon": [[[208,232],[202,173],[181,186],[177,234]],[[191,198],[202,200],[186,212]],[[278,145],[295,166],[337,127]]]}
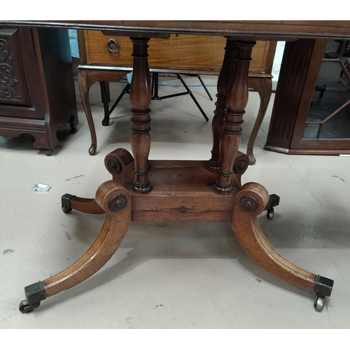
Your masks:
{"label": "thin black metal folding stand legs behind the table columns", "polygon": [[[194,75],[190,75],[190,76],[194,76]],[[200,83],[203,85],[204,90],[207,92],[209,99],[211,101],[213,101],[213,98],[211,97],[211,94],[209,93],[207,86],[204,84],[201,76],[199,75],[195,75],[197,76],[197,78],[200,80]],[[151,85],[151,99],[169,99],[170,97],[178,97],[178,96],[183,96],[184,94],[189,94],[190,97],[192,97],[193,102],[195,102],[196,106],[198,107],[198,109],[201,111],[202,115],[204,116],[205,120],[209,121],[209,118],[207,117],[207,115],[204,113],[202,107],[200,106],[200,104],[197,102],[197,99],[195,98],[195,96],[193,95],[193,92],[190,90],[190,88],[188,87],[188,85],[185,83],[185,81],[183,80],[182,76],[177,73],[177,77],[179,78],[179,80],[181,80],[181,83],[183,84],[183,86],[186,88],[186,92],[179,92],[178,94],[168,94],[166,96],[162,96],[160,97],[158,94],[158,87],[159,87],[159,78],[158,78],[158,72],[154,72],[152,73],[152,85]],[[125,94],[128,94],[130,92],[130,84],[127,83],[127,85],[124,87],[123,91],[120,93],[120,95],[118,96],[118,99],[116,99],[116,102],[114,102],[113,106],[111,106],[111,109],[109,110],[109,116],[111,115],[111,113],[113,112],[113,110],[116,108],[116,106],[118,105],[118,103],[120,102],[120,100],[123,98],[123,96]]]}

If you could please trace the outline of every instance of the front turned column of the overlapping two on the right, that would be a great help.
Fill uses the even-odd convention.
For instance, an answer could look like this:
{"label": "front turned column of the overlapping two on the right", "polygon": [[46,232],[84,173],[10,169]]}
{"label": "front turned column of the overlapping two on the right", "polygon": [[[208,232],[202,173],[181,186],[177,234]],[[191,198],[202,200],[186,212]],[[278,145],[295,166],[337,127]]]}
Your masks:
{"label": "front turned column of the overlapping two on the right", "polygon": [[248,71],[251,61],[251,50],[255,41],[237,41],[237,56],[235,68],[226,95],[225,117],[220,139],[221,164],[218,170],[218,180],[214,190],[218,193],[230,193],[232,184],[230,176],[239,143],[241,141],[241,124],[244,109],[248,102]]}

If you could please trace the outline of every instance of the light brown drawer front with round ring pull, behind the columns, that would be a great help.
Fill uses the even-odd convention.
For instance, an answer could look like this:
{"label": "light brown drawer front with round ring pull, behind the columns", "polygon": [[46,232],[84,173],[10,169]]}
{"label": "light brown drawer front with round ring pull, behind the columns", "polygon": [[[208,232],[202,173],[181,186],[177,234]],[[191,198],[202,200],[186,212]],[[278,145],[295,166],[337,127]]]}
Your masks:
{"label": "light brown drawer front with round ring pull, behind the columns", "polygon": [[[80,36],[81,38],[81,36]],[[118,41],[117,52],[110,52],[107,42]],[[172,35],[169,39],[151,39],[148,43],[148,64],[157,69],[197,69],[218,73],[223,64],[226,39],[223,36]],[[250,71],[265,72],[269,41],[258,41],[253,48]],[[132,42],[125,36],[108,36],[101,31],[83,31],[86,62],[104,66],[132,66]],[[84,59],[83,59],[84,60]]]}

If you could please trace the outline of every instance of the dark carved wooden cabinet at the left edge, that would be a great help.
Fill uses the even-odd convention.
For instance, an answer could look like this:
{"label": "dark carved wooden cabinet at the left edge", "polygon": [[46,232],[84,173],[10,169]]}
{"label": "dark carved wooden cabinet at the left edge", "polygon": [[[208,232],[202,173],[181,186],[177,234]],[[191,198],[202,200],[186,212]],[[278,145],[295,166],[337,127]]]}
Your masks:
{"label": "dark carved wooden cabinet at the left edge", "polygon": [[52,153],[57,129],[78,124],[66,29],[0,27],[0,135]]}

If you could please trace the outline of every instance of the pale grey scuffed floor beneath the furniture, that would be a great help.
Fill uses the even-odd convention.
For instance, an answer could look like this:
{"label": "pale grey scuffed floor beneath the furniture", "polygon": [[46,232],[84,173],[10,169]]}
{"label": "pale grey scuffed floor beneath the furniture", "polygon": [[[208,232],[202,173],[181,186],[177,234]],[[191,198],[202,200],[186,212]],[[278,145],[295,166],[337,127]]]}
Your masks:
{"label": "pale grey scuffed floor beneath the furniture", "polygon": [[[196,78],[187,81],[199,85]],[[214,97],[216,79],[205,81]],[[177,85],[179,80],[161,83]],[[113,84],[112,96],[122,87]],[[162,86],[160,94],[180,90]],[[210,122],[189,96],[153,101],[151,159],[209,159],[214,102],[200,86],[193,92]],[[97,274],[21,314],[24,287],[71,265],[102,225],[102,216],[63,214],[61,195],[94,197],[110,179],[104,156],[118,147],[130,151],[128,96],[111,125],[102,127],[99,85],[92,87],[99,143],[94,156],[87,153],[90,134],[78,94],[77,102],[78,131],[60,131],[50,157],[32,148],[31,138],[0,138],[0,328],[349,328],[350,158],[264,151],[273,97],[255,144],[257,163],[243,183],[261,183],[281,197],[272,221],[264,214],[259,218],[272,246],[296,265],[334,279],[323,311],[314,310],[313,293],[256,265],[230,224],[132,223],[117,253]],[[257,112],[258,94],[252,92],[241,151]],[[36,192],[37,182],[52,188]]]}

